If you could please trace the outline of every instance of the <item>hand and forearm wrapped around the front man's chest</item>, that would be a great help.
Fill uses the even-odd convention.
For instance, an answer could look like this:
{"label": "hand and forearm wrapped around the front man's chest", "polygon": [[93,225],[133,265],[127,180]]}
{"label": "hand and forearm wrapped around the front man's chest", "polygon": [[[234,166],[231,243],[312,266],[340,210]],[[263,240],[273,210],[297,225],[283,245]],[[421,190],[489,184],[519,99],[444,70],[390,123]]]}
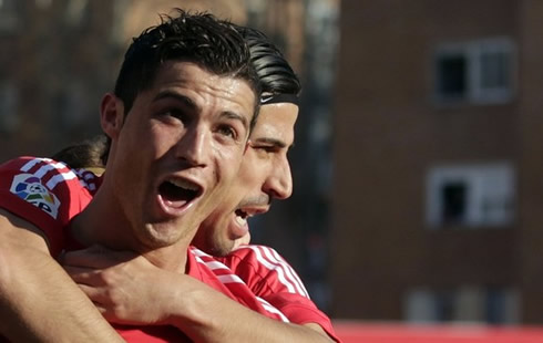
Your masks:
{"label": "hand and forearm wrapped around the front man's chest", "polygon": [[111,322],[174,325],[194,342],[330,342],[317,324],[266,318],[192,277],[158,269],[131,252],[103,247],[72,251],[64,257],[64,268]]}

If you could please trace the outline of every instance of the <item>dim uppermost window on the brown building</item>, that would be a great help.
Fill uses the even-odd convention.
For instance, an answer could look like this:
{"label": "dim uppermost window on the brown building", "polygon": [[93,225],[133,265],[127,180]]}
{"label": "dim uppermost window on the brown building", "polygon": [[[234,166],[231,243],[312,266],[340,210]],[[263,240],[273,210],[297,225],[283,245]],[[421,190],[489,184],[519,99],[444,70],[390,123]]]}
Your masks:
{"label": "dim uppermost window on the brown building", "polygon": [[436,96],[439,103],[505,103],[514,89],[514,44],[488,39],[443,44],[436,52]]}

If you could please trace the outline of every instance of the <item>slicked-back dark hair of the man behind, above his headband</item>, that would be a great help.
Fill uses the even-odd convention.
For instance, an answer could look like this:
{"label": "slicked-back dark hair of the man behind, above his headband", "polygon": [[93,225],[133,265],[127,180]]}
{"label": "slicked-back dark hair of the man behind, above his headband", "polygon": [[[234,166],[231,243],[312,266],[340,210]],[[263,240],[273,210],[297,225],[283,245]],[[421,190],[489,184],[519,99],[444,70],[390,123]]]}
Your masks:
{"label": "slicked-back dark hair of the man behind, above his headband", "polygon": [[300,82],[279,49],[256,29],[237,29],[249,45],[250,63],[260,80],[262,93],[298,96],[301,91]]}

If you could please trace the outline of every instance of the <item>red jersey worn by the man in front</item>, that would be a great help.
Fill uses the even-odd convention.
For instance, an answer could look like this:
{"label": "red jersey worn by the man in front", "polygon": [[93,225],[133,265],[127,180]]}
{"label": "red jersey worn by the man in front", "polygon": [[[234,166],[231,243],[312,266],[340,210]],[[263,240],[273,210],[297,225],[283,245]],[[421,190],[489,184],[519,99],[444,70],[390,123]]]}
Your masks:
{"label": "red jersey worn by the man in front", "polygon": [[[70,249],[64,230],[91,201],[101,178],[84,169],[73,170],[49,158],[21,157],[0,166],[0,207],[33,224],[45,233],[52,257]],[[286,320],[277,309],[257,299],[225,264],[192,248],[187,274],[249,309],[276,320]],[[238,279],[233,284],[224,280]],[[189,342],[176,328],[166,325],[114,325],[127,342]]]}

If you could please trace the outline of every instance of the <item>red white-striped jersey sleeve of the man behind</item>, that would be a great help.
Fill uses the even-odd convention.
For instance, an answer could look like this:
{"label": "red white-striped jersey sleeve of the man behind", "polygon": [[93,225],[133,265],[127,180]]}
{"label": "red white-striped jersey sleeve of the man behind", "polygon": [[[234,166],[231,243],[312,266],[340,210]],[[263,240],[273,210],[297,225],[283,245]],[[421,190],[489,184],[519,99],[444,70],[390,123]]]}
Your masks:
{"label": "red white-striped jersey sleeve of the man behind", "polygon": [[244,280],[255,295],[269,302],[290,322],[317,323],[330,337],[340,342],[330,319],[310,300],[301,279],[276,250],[243,246],[218,260]]}

